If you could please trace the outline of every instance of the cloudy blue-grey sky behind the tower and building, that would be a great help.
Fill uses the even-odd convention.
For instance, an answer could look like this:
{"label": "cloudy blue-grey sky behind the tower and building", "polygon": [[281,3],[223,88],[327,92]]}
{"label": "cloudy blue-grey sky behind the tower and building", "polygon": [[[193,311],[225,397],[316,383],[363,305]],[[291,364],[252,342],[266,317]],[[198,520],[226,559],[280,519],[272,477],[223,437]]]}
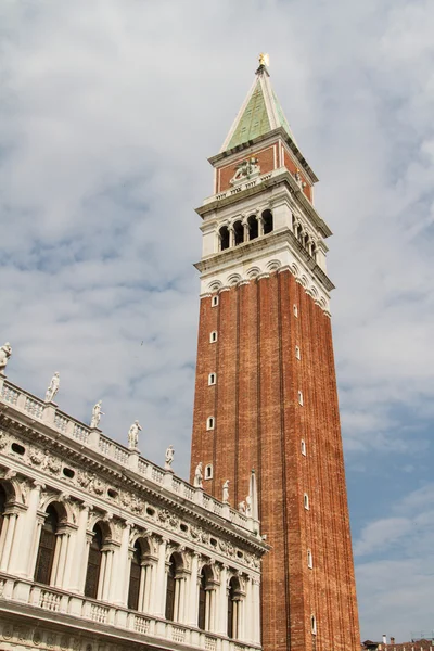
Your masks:
{"label": "cloudy blue-grey sky behind the tower and building", "polygon": [[362,639],[434,628],[432,0],[3,0],[10,380],[188,474],[194,207],[256,68],[320,178]]}

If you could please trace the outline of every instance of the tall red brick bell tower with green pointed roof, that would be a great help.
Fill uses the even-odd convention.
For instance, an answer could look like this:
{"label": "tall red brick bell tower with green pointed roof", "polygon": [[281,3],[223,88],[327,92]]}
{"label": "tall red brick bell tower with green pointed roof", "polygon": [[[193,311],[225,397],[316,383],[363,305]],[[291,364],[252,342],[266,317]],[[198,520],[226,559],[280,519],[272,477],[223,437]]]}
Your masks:
{"label": "tall red brick bell tower with green pointed roof", "polygon": [[360,647],[317,177],[266,55],[220,152],[202,218],[191,474],[241,511],[255,469],[266,651]]}

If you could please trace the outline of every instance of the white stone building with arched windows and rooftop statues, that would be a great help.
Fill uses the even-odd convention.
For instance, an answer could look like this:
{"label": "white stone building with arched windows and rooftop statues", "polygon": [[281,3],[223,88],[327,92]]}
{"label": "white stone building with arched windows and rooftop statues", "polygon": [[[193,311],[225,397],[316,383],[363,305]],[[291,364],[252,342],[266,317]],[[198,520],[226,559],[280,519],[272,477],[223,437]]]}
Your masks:
{"label": "white stone building with arched windows and rooftop statues", "polygon": [[259,523],[52,394],[0,370],[0,649],[259,649]]}

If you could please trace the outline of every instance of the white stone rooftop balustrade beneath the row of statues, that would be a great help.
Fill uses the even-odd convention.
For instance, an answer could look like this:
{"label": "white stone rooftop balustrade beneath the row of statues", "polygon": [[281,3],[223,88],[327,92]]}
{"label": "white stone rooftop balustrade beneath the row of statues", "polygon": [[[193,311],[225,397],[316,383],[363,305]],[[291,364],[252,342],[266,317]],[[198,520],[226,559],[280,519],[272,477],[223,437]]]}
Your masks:
{"label": "white stone rooftop balustrade beneath the row of statues", "polygon": [[237,511],[227,503],[207,495],[201,488],[194,488],[188,482],[175,476],[163,468],[142,458],[137,450],[116,443],[102,434],[100,430],[69,417],[61,411],[53,403],[46,403],[8,380],[0,378],[0,405],[11,406],[26,413],[34,422],[40,421],[50,426],[58,435],[79,441],[81,445],[97,451],[104,459],[110,459],[166,490],[204,508],[209,513],[218,515],[233,525],[251,532],[259,537],[259,523],[253,518]]}

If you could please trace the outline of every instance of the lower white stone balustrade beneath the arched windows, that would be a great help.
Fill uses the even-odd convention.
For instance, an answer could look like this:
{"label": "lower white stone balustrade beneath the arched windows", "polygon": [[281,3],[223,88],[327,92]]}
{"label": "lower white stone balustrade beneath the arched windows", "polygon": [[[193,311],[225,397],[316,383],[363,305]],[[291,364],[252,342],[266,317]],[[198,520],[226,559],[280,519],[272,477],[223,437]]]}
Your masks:
{"label": "lower white stone balustrade beneath the arched windows", "polygon": [[[75,592],[67,592],[24,578],[0,574],[0,611],[13,612],[14,605],[28,609],[28,614],[42,625],[55,614],[68,616],[69,626],[88,628],[93,623],[95,633],[110,626],[111,636],[117,635],[124,642],[137,642],[137,635],[146,636],[146,643],[158,647],[162,641],[176,642],[181,647],[204,649],[204,651],[257,651],[257,644],[200,630],[193,626],[168,622],[155,615],[138,613],[122,607],[103,603]],[[129,636],[131,634],[131,636]]]}

